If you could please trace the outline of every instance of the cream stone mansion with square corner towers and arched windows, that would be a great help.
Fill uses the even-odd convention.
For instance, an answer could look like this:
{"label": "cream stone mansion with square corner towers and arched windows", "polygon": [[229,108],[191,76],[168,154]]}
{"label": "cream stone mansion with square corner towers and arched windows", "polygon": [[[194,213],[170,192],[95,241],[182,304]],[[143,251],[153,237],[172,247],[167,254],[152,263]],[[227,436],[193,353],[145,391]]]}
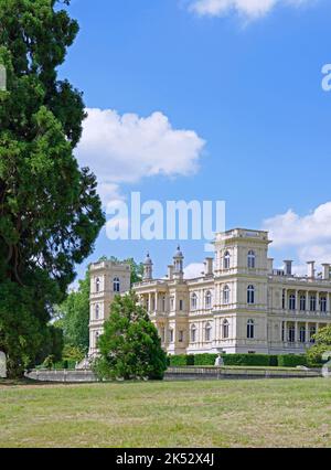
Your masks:
{"label": "cream stone mansion with square corner towers and arched windows", "polygon": [[[331,323],[330,265],[317,275],[310,261],[306,277],[292,274],[291,261],[275,270],[268,258],[270,243],[267,232],[237,228],[218,234],[215,259],[206,258],[205,271],[196,279],[184,279],[180,248],[164,279],[153,279],[148,255],[143,281],[134,289],[169,354],[305,353],[314,332]],[[102,332],[114,296],[111,279],[124,273],[124,292],[129,271],[107,264],[90,269],[92,289],[97,276],[109,281],[102,292],[92,290],[92,316],[96,303],[103,312],[90,321],[94,353],[95,334]]]}

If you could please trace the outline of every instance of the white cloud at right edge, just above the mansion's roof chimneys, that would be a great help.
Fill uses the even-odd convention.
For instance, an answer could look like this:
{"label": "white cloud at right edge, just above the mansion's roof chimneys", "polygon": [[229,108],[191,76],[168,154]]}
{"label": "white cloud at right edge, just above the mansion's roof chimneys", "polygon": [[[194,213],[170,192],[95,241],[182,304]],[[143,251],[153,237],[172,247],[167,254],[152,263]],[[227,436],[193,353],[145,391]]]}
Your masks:
{"label": "white cloud at right edge, just above the mansion's roof chimneys", "polygon": [[289,210],[264,221],[263,228],[270,232],[274,248],[295,248],[301,263],[331,263],[331,202],[303,216]]}

